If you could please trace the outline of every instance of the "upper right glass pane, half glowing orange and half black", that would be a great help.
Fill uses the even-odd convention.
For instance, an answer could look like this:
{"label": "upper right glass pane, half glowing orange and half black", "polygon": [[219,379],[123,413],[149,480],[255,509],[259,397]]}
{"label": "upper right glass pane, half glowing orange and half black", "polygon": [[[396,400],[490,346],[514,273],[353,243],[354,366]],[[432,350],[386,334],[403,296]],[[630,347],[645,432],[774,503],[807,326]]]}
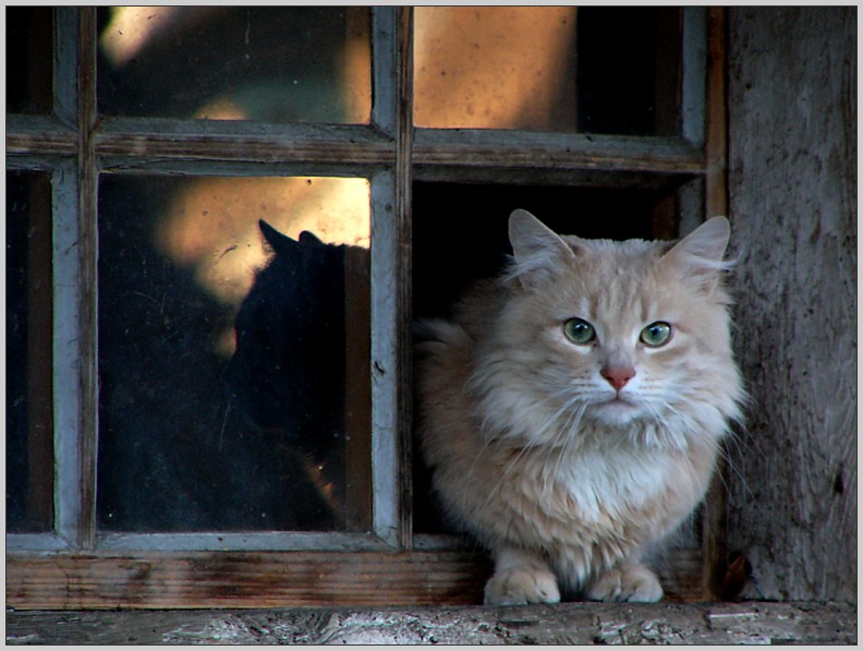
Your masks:
{"label": "upper right glass pane, half glowing orange and half black", "polygon": [[414,34],[417,126],[677,129],[677,9],[420,7]]}

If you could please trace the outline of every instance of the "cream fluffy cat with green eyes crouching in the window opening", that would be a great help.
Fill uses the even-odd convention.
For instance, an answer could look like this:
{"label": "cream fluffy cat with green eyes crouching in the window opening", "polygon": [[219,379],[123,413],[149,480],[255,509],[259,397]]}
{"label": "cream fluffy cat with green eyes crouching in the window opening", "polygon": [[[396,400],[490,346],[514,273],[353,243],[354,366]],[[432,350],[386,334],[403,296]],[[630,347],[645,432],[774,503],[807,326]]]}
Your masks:
{"label": "cream fluffy cat with green eyes crouching in the window opening", "polygon": [[495,559],[488,604],[658,601],[642,563],[703,498],[743,390],[728,220],[677,244],[510,216],[513,260],[418,345],[420,436],[452,522]]}

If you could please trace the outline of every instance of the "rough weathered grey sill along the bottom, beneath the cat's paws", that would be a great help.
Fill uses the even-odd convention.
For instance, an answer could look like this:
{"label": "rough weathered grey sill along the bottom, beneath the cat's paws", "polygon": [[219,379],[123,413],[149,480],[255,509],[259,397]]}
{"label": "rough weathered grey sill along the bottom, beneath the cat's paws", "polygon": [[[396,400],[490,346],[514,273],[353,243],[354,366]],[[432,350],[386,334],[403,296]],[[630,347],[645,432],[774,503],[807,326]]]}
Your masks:
{"label": "rough weathered grey sill along the bottom, beneath the cat's paws", "polygon": [[856,643],[856,604],[7,612],[8,644]]}

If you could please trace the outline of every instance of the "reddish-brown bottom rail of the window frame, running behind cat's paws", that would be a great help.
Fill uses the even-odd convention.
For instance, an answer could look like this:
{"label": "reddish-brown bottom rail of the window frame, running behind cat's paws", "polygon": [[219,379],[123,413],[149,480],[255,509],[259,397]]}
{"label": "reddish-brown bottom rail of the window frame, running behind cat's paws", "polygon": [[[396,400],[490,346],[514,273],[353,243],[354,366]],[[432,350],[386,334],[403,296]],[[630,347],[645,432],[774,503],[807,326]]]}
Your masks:
{"label": "reddish-brown bottom rail of the window frame, running behind cat's paws", "polygon": [[[703,598],[701,554],[659,572],[666,601]],[[7,605],[17,610],[469,605],[491,566],[476,547],[365,552],[14,553]]]}

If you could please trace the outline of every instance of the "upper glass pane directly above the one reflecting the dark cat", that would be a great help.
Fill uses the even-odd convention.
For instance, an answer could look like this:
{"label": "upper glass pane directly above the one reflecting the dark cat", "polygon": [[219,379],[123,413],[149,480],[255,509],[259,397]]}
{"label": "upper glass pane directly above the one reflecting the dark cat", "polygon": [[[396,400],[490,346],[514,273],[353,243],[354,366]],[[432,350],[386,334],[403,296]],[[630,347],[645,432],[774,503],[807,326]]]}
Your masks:
{"label": "upper glass pane directly above the one reflecting the dark cat", "polygon": [[367,8],[99,9],[109,116],[366,123]]}

